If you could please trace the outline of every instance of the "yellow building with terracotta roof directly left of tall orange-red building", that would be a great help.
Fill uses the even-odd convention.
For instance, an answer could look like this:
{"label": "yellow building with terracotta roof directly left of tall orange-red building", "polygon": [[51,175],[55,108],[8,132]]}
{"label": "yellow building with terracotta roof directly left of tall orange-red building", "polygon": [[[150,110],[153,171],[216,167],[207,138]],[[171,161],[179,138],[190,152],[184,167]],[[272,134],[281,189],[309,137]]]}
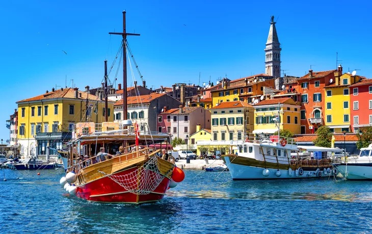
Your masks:
{"label": "yellow building with terracotta roof directly left of tall orange-red building", "polygon": [[300,109],[301,106],[297,105],[291,98],[260,101],[254,105],[253,133],[274,133],[278,131],[274,118],[279,116],[280,130],[286,129],[294,134],[301,134]]}

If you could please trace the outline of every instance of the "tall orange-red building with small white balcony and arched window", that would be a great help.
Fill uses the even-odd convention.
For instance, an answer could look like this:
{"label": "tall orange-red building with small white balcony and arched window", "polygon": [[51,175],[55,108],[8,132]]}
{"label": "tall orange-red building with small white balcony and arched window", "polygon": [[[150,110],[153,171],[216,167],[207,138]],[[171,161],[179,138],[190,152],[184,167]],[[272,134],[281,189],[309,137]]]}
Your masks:
{"label": "tall orange-red building with small white balcony and arched window", "polygon": [[[313,72],[297,79],[297,93],[301,94],[301,134],[311,134],[325,123],[324,86],[335,79],[337,70]],[[342,73],[342,70],[341,70]],[[341,74],[339,74],[341,75]]]}

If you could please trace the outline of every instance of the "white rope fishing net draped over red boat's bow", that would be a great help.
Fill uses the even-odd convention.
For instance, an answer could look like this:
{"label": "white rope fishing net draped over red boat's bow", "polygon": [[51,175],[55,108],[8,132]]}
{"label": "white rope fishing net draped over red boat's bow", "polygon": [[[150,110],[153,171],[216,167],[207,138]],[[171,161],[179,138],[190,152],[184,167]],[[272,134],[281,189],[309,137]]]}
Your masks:
{"label": "white rope fishing net draped over red boat's bow", "polygon": [[[122,186],[130,193],[137,195],[147,195],[154,191],[157,186],[163,181],[166,175],[160,173],[157,167],[157,157],[150,158],[146,163],[135,171],[125,174],[124,176],[114,176],[113,174],[107,175],[113,181]],[[166,174],[168,174],[168,171]]]}

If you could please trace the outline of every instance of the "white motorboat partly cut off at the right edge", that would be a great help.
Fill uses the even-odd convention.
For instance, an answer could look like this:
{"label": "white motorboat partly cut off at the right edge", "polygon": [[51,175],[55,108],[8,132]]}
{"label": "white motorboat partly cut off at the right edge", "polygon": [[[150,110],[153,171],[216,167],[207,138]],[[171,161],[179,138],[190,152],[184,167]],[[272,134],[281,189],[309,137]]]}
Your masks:
{"label": "white motorboat partly cut off at the right edge", "polygon": [[372,144],[361,148],[358,156],[341,157],[336,168],[347,180],[372,180]]}

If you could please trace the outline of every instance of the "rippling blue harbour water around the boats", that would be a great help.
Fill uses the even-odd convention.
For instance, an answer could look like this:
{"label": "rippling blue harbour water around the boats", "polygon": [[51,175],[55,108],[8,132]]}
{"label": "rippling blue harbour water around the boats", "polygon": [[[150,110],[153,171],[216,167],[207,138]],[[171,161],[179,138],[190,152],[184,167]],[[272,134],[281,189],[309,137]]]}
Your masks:
{"label": "rippling blue harbour water around the boats", "polygon": [[7,181],[0,180],[0,232],[372,232],[372,182],[232,181],[228,171],[185,174],[162,201],[136,206],[67,195],[59,184],[62,168],[6,169]]}

